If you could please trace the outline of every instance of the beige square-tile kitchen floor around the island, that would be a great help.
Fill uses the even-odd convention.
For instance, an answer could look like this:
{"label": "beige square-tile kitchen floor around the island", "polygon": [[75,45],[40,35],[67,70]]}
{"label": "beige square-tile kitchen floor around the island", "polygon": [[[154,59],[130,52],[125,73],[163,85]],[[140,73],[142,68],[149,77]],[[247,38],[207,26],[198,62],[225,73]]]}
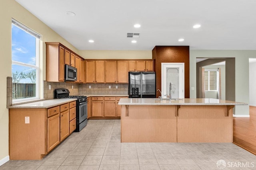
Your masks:
{"label": "beige square-tile kitchen floor around the island", "polygon": [[220,159],[225,170],[256,169],[256,156],[232,143],[120,143],[120,120],[89,120],[44,159],[0,170],[218,170]]}

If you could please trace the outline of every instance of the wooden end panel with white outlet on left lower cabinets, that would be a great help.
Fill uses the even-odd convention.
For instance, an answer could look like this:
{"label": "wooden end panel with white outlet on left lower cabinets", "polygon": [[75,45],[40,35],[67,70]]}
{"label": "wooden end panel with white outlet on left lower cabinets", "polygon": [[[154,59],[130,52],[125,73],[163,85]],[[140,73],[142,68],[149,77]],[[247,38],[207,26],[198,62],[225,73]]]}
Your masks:
{"label": "wooden end panel with white outlet on left lower cabinets", "polygon": [[[30,123],[25,123],[25,116]],[[10,160],[42,159],[45,150],[46,109],[9,109]]]}

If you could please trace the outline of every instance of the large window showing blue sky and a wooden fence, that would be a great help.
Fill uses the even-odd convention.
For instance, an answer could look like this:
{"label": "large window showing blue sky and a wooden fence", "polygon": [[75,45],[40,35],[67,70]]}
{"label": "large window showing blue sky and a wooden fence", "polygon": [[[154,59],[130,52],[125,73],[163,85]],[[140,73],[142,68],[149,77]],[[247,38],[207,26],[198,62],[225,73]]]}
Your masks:
{"label": "large window showing blue sky and a wooden fence", "polygon": [[12,19],[12,100],[39,98],[40,35]]}

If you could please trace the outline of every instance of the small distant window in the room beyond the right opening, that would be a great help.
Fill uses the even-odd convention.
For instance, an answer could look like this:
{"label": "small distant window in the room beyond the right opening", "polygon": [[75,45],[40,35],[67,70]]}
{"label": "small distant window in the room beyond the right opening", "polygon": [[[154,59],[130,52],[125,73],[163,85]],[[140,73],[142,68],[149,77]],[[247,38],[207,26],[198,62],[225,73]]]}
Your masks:
{"label": "small distant window in the room beyond the right opening", "polygon": [[206,91],[218,90],[218,70],[204,71],[204,89]]}

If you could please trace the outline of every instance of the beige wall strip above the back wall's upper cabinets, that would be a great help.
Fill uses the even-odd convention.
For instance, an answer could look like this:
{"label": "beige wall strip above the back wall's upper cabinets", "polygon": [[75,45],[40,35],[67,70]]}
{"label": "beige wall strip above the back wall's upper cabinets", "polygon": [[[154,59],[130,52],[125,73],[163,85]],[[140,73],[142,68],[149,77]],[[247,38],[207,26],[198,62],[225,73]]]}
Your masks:
{"label": "beige wall strip above the back wall's upper cabinets", "polygon": [[83,50],[84,59],[152,59],[152,51]]}

